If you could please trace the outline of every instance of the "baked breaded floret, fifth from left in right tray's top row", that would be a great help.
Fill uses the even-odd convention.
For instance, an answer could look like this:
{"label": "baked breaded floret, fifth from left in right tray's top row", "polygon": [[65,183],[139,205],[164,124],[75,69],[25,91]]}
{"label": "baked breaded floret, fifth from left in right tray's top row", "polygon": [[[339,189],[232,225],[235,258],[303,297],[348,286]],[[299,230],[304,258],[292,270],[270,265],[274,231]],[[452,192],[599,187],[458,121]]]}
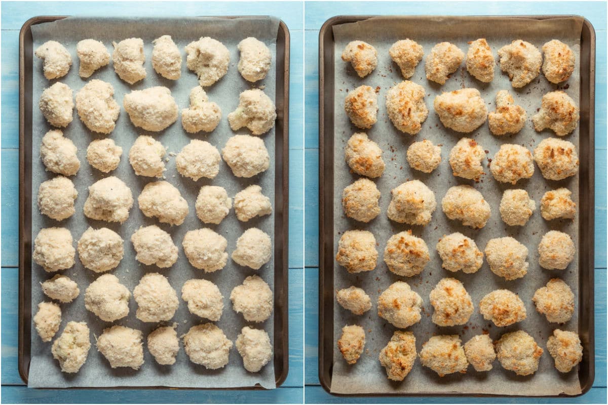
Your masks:
{"label": "baked breaded floret, fifth from left in right tray's top row", "polygon": [[513,87],[523,87],[541,73],[541,51],[529,42],[516,39],[500,48],[498,56],[500,69],[509,75]]}

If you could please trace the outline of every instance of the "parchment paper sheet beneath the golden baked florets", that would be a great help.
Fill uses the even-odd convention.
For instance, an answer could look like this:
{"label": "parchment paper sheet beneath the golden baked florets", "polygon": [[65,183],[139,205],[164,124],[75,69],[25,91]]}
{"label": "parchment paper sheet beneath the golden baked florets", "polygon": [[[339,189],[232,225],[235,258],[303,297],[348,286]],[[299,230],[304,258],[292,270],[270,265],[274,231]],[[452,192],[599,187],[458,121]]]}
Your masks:
{"label": "parchment paper sheet beneath the golden baked florets", "polygon": [[[335,41],[335,128],[336,142],[334,146],[334,251],[340,235],[346,230],[361,229],[371,231],[378,243],[378,265],[374,271],[348,274],[339,265],[334,266],[334,288],[347,288],[350,285],[364,288],[370,295],[373,306],[370,311],[362,316],[356,316],[350,311],[344,310],[337,303],[334,304],[334,367],[331,391],[336,393],[487,393],[496,395],[557,395],[559,393],[576,394],[581,392],[577,368],[567,374],[559,373],[553,366],[553,359],[547,352],[546,342],[553,329],[578,330],[578,305],[573,318],[565,325],[550,324],[547,319],[537,313],[534,303],[531,301],[534,291],[544,286],[553,277],[561,277],[570,285],[578,301],[578,254],[567,270],[544,270],[538,264],[537,246],[542,236],[549,230],[561,230],[570,234],[572,239],[578,241],[578,222],[572,220],[554,220],[547,222],[540,214],[540,199],[545,191],[565,186],[573,194],[572,198],[578,202],[578,176],[560,182],[545,180],[538,166],[535,165],[534,175],[529,180],[520,180],[516,185],[502,184],[494,180],[489,168],[480,183],[472,180],[461,179],[452,175],[448,156],[452,147],[466,136],[476,140],[488,151],[488,158],[492,158],[503,143],[516,143],[523,145],[533,151],[536,145],[544,138],[554,137],[553,132],[534,131],[531,117],[541,106],[541,98],[545,93],[558,87],[564,89],[570,97],[578,104],[579,100],[579,39],[581,36],[581,19],[564,18],[537,21],[525,18],[468,18],[468,17],[379,17],[352,24],[341,24],[334,27]],[[390,122],[385,107],[385,95],[387,90],[399,83],[402,79],[399,67],[390,59],[389,48],[399,39],[410,38],[417,41],[424,48],[424,58],[430,49],[437,43],[449,41],[458,46],[466,55],[468,41],[477,38],[486,38],[492,53],[498,61],[497,50],[514,39],[523,39],[541,49],[542,45],[553,38],[567,43],[576,53],[576,69],[567,83],[560,86],[549,83],[541,74],[523,89],[514,89],[508,76],[500,71],[500,66],[494,69],[494,80],[489,84],[481,83],[466,72],[465,62],[452,77],[440,86],[437,83],[427,81],[424,73],[424,58],[416,67],[415,74],[410,80],[421,84],[426,89],[425,103],[429,107],[429,117],[423,124],[423,129],[415,136],[404,134],[395,129]],[[378,67],[374,72],[359,79],[350,64],[341,60],[340,55],[346,44],[354,39],[366,41],[378,50]],[[376,219],[368,223],[356,222],[345,217],[342,211],[341,198],[342,189],[356,180],[359,176],[349,172],[348,165],[344,161],[344,147],[348,138],[361,130],[356,129],[344,112],[344,98],[348,90],[367,84],[372,87],[379,86],[379,111],[378,123],[367,131],[371,140],[374,140],[382,148],[384,162],[387,164],[384,174],[375,180],[381,191],[381,213]],[[480,90],[483,99],[488,104],[488,111],[496,110],[495,98],[499,90],[509,90],[516,104],[524,107],[528,118],[525,127],[519,134],[503,135],[496,137],[491,135],[488,125],[483,124],[471,134],[458,134],[446,129],[437,117],[433,109],[434,98],[441,92],[448,92],[464,87],[475,87]],[[365,132],[365,131],[364,131]],[[578,148],[578,128],[573,134],[564,137],[572,141]],[[406,160],[407,147],[414,141],[423,139],[431,140],[435,145],[441,146],[441,165],[430,174],[424,174],[410,168]],[[584,157],[581,157],[584,158]],[[483,161],[486,166],[487,160]],[[392,222],[387,218],[387,208],[390,202],[390,190],[407,180],[418,179],[424,182],[435,192],[437,210],[432,216],[431,222],[426,226],[409,226]],[[491,206],[491,217],[482,230],[472,230],[461,226],[460,222],[448,220],[441,211],[441,199],[449,187],[458,184],[470,184],[482,192],[483,197]],[[500,219],[499,204],[502,192],[505,189],[523,188],[528,191],[530,197],[536,201],[536,211],[526,226],[507,226]],[[424,271],[415,277],[399,277],[391,273],[384,260],[382,260],[384,247],[390,236],[400,231],[412,229],[413,234],[422,237],[430,252],[430,262]],[[441,268],[441,258],[437,254],[435,245],[444,234],[460,232],[471,237],[477,243],[480,250],[484,250],[489,239],[502,236],[513,236],[519,242],[528,247],[528,262],[530,268],[528,274],[516,281],[505,281],[489,270],[484,258],[483,267],[474,274],[464,274],[461,271],[452,273]],[[578,245],[578,243],[577,243]],[[466,290],[471,294],[475,312],[466,325],[457,327],[439,327],[435,325],[430,316],[433,308],[429,302],[429,293],[438,281],[443,277],[455,277],[463,282]],[[452,374],[440,378],[437,373],[423,367],[420,358],[416,359],[415,366],[409,375],[401,383],[390,381],[386,377],[384,367],[378,361],[380,350],[390,340],[396,330],[393,325],[377,315],[376,302],[379,294],[395,281],[402,280],[410,284],[412,289],[423,298],[422,320],[408,328],[416,336],[416,349],[420,353],[421,347],[433,335],[458,334],[463,344],[472,336],[489,332],[492,339],[497,340],[503,333],[515,330],[525,330],[536,340],[537,344],[545,349],[542,355],[539,369],[531,376],[517,376],[514,372],[504,370],[499,361],[494,362],[494,368],[490,372],[475,372],[469,366],[466,374]],[[499,328],[490,321],[485,321],[478,313],[478,304],[483,296],[493,290],[507,288],[519,294],[525,303],[527,319],[509,327]],[[341,330],[347,324],[360,324],[365,329],[367,342],[365,352],[354,366],[348,364],[342,358],[337,349],[337,339],[342,334]]]}

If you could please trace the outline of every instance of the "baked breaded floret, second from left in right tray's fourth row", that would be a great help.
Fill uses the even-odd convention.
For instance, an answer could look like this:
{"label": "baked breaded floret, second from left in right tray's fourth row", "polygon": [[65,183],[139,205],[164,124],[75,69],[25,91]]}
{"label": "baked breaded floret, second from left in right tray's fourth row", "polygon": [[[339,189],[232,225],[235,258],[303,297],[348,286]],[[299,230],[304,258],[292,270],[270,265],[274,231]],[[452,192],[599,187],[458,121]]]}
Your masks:
{"label": "baked breaded floret, second from left in right tray's fourth row", "polygon": [[437,208],[434,192],[420,180],[410,180],[390,191],[387,215],[395,222],[427,225]]}

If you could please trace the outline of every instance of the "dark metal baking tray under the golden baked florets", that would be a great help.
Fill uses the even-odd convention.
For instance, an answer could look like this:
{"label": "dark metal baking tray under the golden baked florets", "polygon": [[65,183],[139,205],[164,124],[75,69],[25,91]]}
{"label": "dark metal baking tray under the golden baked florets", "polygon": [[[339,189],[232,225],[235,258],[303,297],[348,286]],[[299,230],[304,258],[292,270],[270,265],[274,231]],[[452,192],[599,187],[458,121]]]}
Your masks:
{"label": "dark metal baking tray under the golden baked florets", "polygon": [[[334,35],[333,26],[373,18],[367,16],[335,16],[328,19],[319,32],[319,381],[331,395],[334,355]],[[505,16],[501,16],[505,18]],[[506,16],[507,18],[551,19],[573,16]],[[419,16],[418,18],[428,18]],[[433,16],[437,18],[437,16]],[[449,19],[449,16],[444,17]],[[475,18],[483,19],[485,16]],[[500,73],[499,73],[500,74]],[[580,121],[579,121],[579,336],[583,346],[579,364],[579,381],[583,395],[593,386],[595,377],[595,325],[593,320],[593,248],[595,205],[595,30],[584,19],[580,50]],[[340,111],[339,113],[342,113]],[[368,393],[357,396],[503,396],[467,393]],[[578,396],[574,395],[574,396]],[[522,395],[510,395],[522,396]],[[572,395],[556,395],[572,396]]]}

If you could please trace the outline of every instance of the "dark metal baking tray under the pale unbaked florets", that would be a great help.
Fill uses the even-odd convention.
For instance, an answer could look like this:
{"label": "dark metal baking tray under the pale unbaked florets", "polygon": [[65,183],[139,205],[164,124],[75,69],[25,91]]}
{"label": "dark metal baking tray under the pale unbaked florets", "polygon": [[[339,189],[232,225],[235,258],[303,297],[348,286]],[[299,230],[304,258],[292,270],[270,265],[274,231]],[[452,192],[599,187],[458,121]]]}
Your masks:
{"label": "dark metal baking tray under the pale unbaked florets", "polygon": [[[247,16],[216,16],[241,18]],[[36,16],[27,20],[19,32],[19,375],[27,384],[30,367],[32,324],[32,66],[33,39],[31,27],[67,16]],[[288,327],[288,234],[289,234],[289,29],[280,21],[276,47],[275,105],[275,200],[274,222],[274,370],[277,387],[285,382],[289,370]],[[87,389],[74,387],[72,389]],[[90,387],[103,389],[103,387]],[[188,387],[112,387],[112,389],[201,389]],[[204,389],[204,388],[202,388]],[[212,389],[212,388],[210,388]],[[252,387],[222,388],[264,389]]]}

